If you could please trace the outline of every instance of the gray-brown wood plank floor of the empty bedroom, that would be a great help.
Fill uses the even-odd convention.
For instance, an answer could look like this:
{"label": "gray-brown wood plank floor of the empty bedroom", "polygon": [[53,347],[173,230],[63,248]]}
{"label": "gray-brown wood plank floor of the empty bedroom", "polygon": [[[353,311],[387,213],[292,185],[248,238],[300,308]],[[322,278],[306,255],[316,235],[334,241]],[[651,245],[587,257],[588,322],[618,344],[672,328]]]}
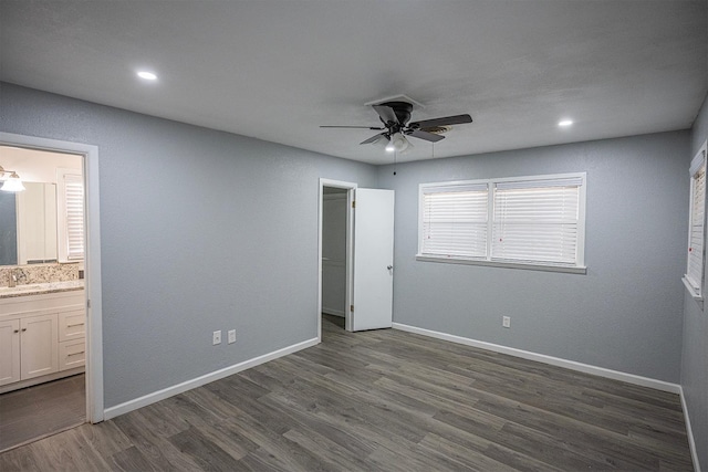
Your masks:
{"label": "gray-brown wood plank floor of the empty bedroom", "polygon": [[690,471],[676,395],[325,317],[323,343],[0,470]]}

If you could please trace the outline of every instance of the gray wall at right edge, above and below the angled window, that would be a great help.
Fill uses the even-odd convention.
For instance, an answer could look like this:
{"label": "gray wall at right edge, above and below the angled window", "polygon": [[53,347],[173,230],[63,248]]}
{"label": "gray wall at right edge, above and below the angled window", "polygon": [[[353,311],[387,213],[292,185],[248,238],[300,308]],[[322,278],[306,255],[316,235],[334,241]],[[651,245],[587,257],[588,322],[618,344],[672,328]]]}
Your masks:
{"label": "gray wall at right edge, above and below the angled window", "polygon": [[[691,151],[684,160],[688,169],[700,146],[708,139],[708,97],[691,129]],[[688,176],[688,171],[686,172]],[[688,177],[686,177],[688,178]],[[708,293],[708,284],[704,286]],[[708,469],[708,312],[684,291],[684,355],[681,387],[691,421],[701,470]]]}

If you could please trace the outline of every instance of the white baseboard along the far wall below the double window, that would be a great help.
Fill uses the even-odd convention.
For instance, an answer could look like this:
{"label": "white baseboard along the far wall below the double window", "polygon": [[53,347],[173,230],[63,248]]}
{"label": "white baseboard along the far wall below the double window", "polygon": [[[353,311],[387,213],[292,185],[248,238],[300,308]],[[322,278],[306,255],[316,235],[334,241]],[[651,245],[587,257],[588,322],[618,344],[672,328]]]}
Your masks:
{"label": "white baseboard along the far wall below the double window", "polygon": [[670,394],[680,395],[681,387],[678,384],[671,384],[664,380],[657,380],[648,377],[642,377],[634,374],[626,374],[618,370],[606,369],[604,367],[591,366],[589,364],[576,363],[574,360],[561,359],[560,357],[546,356],[544,354],[531,353],[529,350],[517,349],[513,347],[501,346],[499,344],[486,343],[483,340],[471,339],[468,337],[455,336],[447,333],[435,332],[430,329],[419,328],[416,326],[394,323],[395,329],[415,333],[423,336],[435,337],[451,343],[464,344],[466,346],[478,347],[480,349],[493,350],[494,353],[508,354],[509,356],[521,357],[523,359],[535,360],[552,366],[564,367],[566,369],[576,370],[584,374],[596,375],[600,377],[611,378],[614,380],[626,381],[642,387],[649,387],[656,390],[668,391]]}

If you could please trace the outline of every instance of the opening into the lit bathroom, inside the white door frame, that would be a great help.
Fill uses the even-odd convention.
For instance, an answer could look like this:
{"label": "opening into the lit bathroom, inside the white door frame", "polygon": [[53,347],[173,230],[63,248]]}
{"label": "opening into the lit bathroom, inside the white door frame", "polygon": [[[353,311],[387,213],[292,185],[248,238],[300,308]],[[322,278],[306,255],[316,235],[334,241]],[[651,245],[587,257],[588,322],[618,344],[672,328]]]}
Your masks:
{"label": "opening into the lit bathroom, inside the white door frame", "polygon": [[0,162],[23,183],[0,192],[2,451],[85,422],[86,348],[83,156],[0,146]]}

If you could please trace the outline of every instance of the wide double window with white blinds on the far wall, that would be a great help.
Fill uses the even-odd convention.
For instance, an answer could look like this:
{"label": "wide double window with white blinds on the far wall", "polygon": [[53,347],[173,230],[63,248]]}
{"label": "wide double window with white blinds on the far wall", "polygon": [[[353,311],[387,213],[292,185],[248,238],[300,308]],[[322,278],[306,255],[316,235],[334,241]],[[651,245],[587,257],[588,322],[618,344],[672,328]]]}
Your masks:
{"label": "wide double window with white blinds on the far wall", "polygon": [[585,272],[585,174],[424,183],[418,260]]}

